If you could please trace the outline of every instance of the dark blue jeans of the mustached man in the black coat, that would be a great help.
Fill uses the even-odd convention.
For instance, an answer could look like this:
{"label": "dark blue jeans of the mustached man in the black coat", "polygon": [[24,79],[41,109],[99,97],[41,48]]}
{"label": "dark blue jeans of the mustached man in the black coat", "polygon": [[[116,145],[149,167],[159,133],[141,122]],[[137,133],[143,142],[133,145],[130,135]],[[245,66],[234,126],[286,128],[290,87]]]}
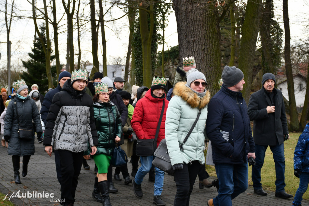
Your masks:
{"label": "dark blue jeans of the mustached man in the black coat", "polygon": [[[267,145],[255,145],[255,161],[256,165],[252,167],[252,182],[253,188],[258,190],[262,188],[261,183],[261,168],[264,164],[265,151]],[[286,183],[284,183],[284,172],[285,172],[285,160],[284,160],[284,147],[282,144],[277,144],[276,146],[269,146],[270,150],[273,152],[273,160],[275,161],[276,169],[276,192],[284,191]]]}

